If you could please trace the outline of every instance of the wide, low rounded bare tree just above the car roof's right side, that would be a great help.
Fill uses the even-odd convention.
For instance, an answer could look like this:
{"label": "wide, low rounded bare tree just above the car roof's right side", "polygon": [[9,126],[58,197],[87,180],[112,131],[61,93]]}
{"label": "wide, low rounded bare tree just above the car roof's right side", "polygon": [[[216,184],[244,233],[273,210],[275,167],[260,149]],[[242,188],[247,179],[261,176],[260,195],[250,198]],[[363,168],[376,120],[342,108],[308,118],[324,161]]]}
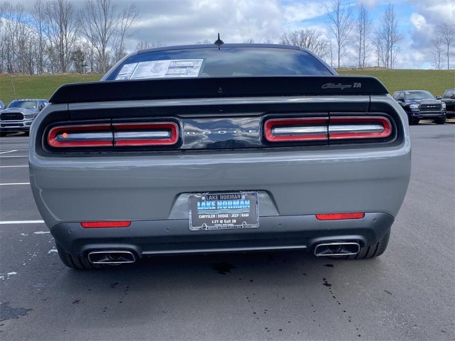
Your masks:
{"label": "wide, low rounded bare tree just above the car roof's right side", "polygon": [[329,40],[325,39],[320,31],[312,28],[284,33],[280,44],[303,47],[321,58],[327,57],[330,52]]}

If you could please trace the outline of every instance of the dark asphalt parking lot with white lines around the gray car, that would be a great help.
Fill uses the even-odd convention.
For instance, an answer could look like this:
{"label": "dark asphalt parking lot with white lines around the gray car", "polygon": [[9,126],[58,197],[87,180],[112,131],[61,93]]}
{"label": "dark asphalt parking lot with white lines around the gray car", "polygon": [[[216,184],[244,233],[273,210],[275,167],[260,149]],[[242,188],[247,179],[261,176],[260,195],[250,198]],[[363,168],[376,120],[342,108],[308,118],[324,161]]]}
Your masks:
{"label": "dark asphalt parking lot with white lines around the gray car", "polygon": [[0,338],[454,340],[455,125],[411,134],[408,193],[379,258],[173,256],[101,271],[60,262],[28,185],[28,137],[1,138]]}

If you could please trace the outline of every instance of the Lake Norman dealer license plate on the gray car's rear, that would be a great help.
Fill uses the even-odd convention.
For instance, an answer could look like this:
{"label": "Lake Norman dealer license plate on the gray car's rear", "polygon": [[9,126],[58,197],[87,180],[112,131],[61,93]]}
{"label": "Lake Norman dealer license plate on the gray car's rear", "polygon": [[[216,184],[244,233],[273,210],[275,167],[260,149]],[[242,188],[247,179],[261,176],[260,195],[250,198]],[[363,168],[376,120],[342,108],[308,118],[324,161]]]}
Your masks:
{"label": "Lake Norman dealer license plate on the gray car's rear", "polygon": [[256,192],[194,194],[188,202],[192,231],[259,227]]}

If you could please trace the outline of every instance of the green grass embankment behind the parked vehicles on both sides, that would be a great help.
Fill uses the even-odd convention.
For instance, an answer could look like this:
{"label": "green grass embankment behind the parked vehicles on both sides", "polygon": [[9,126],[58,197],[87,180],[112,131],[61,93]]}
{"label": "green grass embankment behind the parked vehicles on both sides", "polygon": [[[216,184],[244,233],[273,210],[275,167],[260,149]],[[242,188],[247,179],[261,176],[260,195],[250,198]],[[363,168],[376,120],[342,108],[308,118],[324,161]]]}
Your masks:
{"label": "green grass embankment behind the parked vehicles on both sides", "polygon": [[[455,87],[455,70],[387,70],[340,69],[340,75],[369,75],[378,78],[391,94],[397,90],[428,90],[442,95]],[[0,76],[0,100],[5,104],[14,98],[48,99],[62,84],[98,81],[102,75],[64,74],[41,76]]]}

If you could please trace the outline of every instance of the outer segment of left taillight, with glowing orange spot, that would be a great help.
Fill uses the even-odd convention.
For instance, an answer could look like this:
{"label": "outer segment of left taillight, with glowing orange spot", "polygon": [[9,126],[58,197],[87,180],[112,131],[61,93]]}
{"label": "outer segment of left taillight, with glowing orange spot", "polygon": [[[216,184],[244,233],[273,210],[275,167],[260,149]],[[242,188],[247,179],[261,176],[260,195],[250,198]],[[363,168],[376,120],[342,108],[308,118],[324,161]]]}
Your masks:
{"label": "outer segment of left taillight, with glowing orange spot", "polygon": [[107,147],[114,135],[110,124],[57,126],[49,131],[47,142],[52,147]]}

